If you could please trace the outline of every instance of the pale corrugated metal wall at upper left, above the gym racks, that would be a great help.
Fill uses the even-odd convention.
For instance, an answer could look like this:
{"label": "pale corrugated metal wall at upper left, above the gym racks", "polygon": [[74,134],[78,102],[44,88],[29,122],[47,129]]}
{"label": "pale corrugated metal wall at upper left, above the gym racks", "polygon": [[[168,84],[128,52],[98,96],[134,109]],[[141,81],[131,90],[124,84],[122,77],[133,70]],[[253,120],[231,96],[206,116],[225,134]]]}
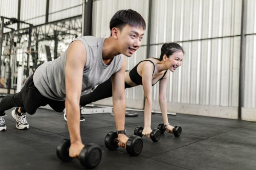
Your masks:
{"label": "pale corrugated metal wall at upper left, above the gym racks", "polygon": [[[34,26],[45,23],[47,0],[21,0],[20,20]],[[49,22],[82,14],[82,0],[49,0]],[[18,0],[0,0],[0,16],[15,17]],[[21,25],[27,27],[27,25]]]}

